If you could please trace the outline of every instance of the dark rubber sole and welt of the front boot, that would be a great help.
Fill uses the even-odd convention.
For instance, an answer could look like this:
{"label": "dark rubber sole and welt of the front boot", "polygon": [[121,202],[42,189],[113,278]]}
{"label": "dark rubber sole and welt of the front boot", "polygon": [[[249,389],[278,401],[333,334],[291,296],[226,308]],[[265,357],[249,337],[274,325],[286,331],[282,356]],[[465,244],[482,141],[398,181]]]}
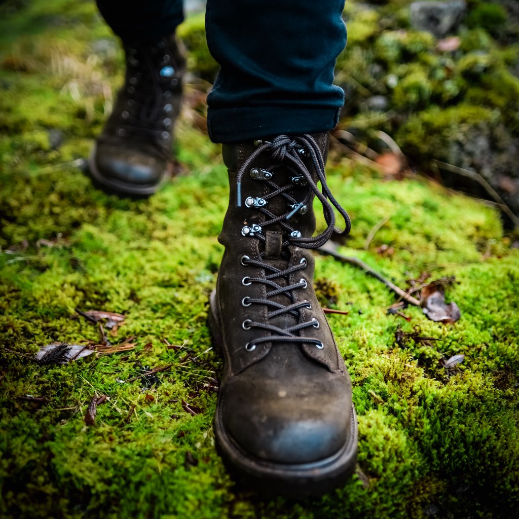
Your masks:
{"label": "dark rubber sole and welt of the front boot", "polygon": [[[223,336],[216,302],[216,291],[209,298],[209,327],[215,347],[223,351]],[[345,483],[357,464],[358,427],[355,408],[351,406],[349,440],[333,456],[301,465],[285,465],[252,456],[243,450],[227,433],[223,409],[218,397],[214,417],[216,447],[236,480],[249,489],[268,495],[282,494],[301,499],[321,496]]]}

